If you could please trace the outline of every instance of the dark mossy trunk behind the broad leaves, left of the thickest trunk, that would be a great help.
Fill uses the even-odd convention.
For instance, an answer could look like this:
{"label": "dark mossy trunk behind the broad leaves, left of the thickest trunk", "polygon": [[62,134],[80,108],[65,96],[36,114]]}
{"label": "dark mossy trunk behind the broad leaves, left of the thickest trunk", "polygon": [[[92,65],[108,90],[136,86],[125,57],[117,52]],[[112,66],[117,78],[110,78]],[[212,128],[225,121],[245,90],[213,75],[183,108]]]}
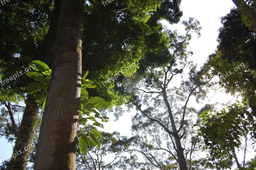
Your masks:
{"label": "dark mossy trunk behind the broad leaves, left of the thickest trunk", "polygon": [[[61,0],[55,0],[54,9],[51,14],[51,24],[44,38],[40,54],[37,58],[38,60],[45,62],[47,65],[50,64],[50,56],[52,54],[52,48],[54,46],[54,41],[56,38],[60,18],[60,3]],[[15,146],[13,148],[14,156],[17,155],[17,151],[21,151],[22,154],[18,152],[18,154],[20,153],[19,156],[17,156],[15,159],[12,157],[7,169],[26,169],[29,153],[32,149],[30,148],[30,146],[33,143],[34,132],[37,126],[36,120],[38,119],[38,109],[39,108],[35,102],[35,99],[33,98],[33,95],[28,95],[26,100],[26,108],[23,113],[20,129],[18,131]],[[26,148],[26,150],[24,150],[24,148]]]}

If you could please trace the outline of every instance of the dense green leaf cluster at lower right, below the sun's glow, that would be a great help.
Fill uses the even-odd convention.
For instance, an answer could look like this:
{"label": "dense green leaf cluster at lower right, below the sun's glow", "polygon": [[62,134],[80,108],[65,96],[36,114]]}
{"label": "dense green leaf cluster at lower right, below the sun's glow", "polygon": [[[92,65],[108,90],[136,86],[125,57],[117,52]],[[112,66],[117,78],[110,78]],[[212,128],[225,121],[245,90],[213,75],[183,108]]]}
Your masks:
{"label": "dense green leaf cluster at lower right, below the sun's glow", "polygon": [[[253,116],[247,111],[248,102],[237,101],[220,112],[209,110],[199,115],[201,123],[198,135],[204,138],[204,147],[210,151],[213,161],[229,155],[228,159],[232,160],[232,153],[240,148],[241,137],[247,134],[254,134],[254,129],[249,126],[255,122]],[[221,167],[231,168],[228,160],[218,162]]]}

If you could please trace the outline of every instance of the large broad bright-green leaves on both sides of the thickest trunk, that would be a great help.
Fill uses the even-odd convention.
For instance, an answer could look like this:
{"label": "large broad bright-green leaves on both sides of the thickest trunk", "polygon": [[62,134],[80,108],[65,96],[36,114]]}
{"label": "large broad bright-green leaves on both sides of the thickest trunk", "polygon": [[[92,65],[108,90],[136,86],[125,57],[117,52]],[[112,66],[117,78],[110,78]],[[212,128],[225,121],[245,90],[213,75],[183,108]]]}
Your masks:
{"label": "large broad bright-green leaves on both sides of the thickest trunk", "polygon": [[[42,104],[42,108],[44,109],[46,100],[47,100],[47,89],[49,89],[50,78],[52,70],[49,67],[39,60],[33,60],[29,65],[35,70],[34,72],[26,73],[31,79],[34,79],[37,82],[31,82],[28,84],[28,87],[25,88],[28,94],[34,94],[33,97],[36,98],[36,102],[38,105]],[[33,66],[34,65],[34,66]],[[103,109],[107,109],[109,104],[100,97],[89,97],[86,88],[95,88],[95,85],[92,85],[94,81],[85,79],[88,75],[88,71],[82,76],[81,80],[81,102],[79,109],[79,119],[78,126],[88,127],[86,131],[83,133],[83,129],[80,129],[81,136],[78,139],[78,145],[80,147],[80,151],[86,155],[87,154],[87,145],[93,147],[100,147],[100,141],[102,141],[102,137],[100,133],[92,129],[91,126],[99,126],[103,127],[96,118],[100,119],[102,122],[107,122],[107,116],[100,116],[98,111],[102,111]],[[46,77],[45,77],[46,76]],[[39,93],[37,93],[39,92]],[[96,109],[96,110],[95,110]],[[91,114],[93,113],[93,115]],[[91,120],[93,124],[88,123],[88,120]]]}

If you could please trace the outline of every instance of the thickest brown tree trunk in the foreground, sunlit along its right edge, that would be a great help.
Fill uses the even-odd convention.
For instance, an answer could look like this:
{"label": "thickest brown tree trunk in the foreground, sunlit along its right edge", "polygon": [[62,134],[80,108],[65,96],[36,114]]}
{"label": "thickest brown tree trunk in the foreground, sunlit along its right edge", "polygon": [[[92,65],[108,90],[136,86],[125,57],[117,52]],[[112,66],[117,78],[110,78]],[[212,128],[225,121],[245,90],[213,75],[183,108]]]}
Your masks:
{"label": "thickest brown tree trunk in the foreground, sunlit along its right edge", "polygon": [[83,6],[83,0],[62,1],[52,81],[37,143],[35,169],[76,169]]}

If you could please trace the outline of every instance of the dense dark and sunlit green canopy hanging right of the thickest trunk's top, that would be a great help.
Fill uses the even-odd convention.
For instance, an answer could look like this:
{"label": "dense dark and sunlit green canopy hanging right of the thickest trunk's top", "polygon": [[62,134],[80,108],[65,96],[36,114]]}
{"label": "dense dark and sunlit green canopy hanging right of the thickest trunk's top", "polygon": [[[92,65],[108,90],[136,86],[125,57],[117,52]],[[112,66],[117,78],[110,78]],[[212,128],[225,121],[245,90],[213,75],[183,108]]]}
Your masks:
{"label": "dense dark and sunlit green canopy hanging right of the thickest trunk's top", "polygon": [[[124,8],[127,9],[118,12]],[[127,102],[132,94],[122,85],[124,76],[131,76],[139,67],[143,73],[151,64],[166,64],[170,60],[167,47],[170,37],[159,21],[177,23],[181,15],[180,0],[115,0],[107,6],[100,1],[86,4],[82,68],[90,70],[89,78],[97,85],[90,89],[90,94],[104,97],[111,106]],[[126,70],[132,63],[136,66]],[[123,75],[117,80],[105,86],[101,83],[121,70]]]}

